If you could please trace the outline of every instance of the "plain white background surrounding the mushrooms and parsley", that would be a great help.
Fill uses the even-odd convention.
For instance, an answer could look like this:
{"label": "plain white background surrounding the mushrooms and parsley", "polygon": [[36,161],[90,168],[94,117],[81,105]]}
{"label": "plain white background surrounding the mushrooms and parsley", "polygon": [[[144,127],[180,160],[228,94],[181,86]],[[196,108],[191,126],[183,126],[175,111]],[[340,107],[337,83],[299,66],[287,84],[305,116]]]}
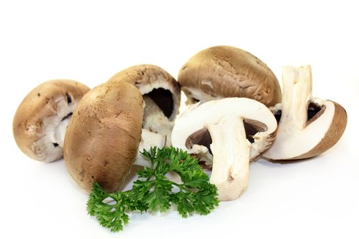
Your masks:
{"label": "plain white background surrounding the mushrooms and parsley", "polygon": [[[356,1],[120,2],[0,2],[0,238],[359,238]],[[118,234],[86,214],[63,160],[38,163],[16,147],[16,107],[43,81],[94,87],[135,64],[176,77],[218,44],[250,51],[278,79],[280,66],[311,64],[313,95],[347,109],[341,141],[311,160],[259,160],[245,195],[208,216],[132,215]]]}

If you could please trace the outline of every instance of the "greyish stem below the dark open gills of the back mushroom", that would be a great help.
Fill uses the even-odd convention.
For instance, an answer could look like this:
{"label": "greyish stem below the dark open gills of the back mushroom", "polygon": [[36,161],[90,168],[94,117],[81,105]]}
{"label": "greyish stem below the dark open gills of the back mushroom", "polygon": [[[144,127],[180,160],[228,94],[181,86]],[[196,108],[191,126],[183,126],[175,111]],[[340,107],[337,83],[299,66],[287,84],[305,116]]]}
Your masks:
{"label": "greyish stem below the dark open gills of the back mushroom", "polygon": [[165,117],[159,106],[149,97],[144,96],[144,122],[142,128],[166,137],[165,146],[171,145],[171,134],[174,126],[168,117]]}

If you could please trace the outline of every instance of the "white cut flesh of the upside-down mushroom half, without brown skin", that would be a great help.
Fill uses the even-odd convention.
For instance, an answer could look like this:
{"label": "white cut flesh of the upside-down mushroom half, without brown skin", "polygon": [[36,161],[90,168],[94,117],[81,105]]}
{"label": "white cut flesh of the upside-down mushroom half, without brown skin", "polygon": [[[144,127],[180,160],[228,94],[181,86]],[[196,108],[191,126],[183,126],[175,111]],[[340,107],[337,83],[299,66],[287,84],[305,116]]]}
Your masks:
{"label": "white cut flesh of the upside-down mushroom half, without brown skin", "polygon": [[[276,140],[263,154],[274,160],[294,158],[313,149],[325,137],[332,124],[335,110],[333,102],[312,98],[310,66],[283,67],[282,81],[282,104],[274,107],[274,111],[282,111]],[[307,124],[310,102],[325,107],[325,110],[318,119]]]}

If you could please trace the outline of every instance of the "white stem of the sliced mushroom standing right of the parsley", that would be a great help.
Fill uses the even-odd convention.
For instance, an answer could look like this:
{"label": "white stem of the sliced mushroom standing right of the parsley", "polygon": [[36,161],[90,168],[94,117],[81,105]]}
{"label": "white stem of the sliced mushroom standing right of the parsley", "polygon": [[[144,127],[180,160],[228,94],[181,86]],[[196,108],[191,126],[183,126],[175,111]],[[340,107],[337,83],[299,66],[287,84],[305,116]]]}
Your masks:
{"label": "white stem of the sliced mushroom standing right of the parsley", "polygon": [[220,201],[237,199],[249,180],[250,141],[245,137],[241,117],[223,117],[208,124],[212,138],[213,168],[210,182],[218,189]]}

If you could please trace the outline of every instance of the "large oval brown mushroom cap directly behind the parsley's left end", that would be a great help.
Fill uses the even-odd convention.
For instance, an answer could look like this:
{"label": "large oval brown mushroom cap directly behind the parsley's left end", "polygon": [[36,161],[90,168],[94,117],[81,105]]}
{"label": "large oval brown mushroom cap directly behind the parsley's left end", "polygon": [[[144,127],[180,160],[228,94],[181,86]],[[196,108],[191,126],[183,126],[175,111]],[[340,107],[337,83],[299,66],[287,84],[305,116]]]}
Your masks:
{"label": "large oval brown mushroom cap directly behind the parsley's left end", "polygon": [[64,159],[72,178],[86,191],[98,182],[117,191],[135,160],[141,139],[144,101],[125,81],[99,85],[83,96],[64,141]]}

